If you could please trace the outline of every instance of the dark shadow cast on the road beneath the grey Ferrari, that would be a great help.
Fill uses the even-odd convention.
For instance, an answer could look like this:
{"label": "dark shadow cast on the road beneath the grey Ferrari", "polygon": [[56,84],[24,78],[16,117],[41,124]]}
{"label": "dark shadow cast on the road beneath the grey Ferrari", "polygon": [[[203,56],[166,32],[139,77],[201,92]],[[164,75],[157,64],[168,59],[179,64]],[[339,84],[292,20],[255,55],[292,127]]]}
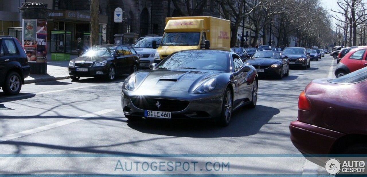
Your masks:
{"label": "dark shadow cast on the road beneath the grey Ferrari", "polygon": [[[261,114],[259,114],[261,113]],[[242,108],[232,115],[228,127],[219,127],[209,120],[138,120],[127,125],[139,132],[190,138],[219,138],[255,135],[279,109],[257,105],[255,109]]]}

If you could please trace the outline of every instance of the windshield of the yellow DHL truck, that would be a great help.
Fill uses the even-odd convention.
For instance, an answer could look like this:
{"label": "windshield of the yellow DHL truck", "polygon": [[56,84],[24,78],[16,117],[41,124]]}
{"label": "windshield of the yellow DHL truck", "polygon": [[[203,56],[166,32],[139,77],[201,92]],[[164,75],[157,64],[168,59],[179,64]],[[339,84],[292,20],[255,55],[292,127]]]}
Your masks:
{"label": "windshield of the yellow DHL truck", "polygon": [[199,32],[164,33],[161,45],[199,45]]}

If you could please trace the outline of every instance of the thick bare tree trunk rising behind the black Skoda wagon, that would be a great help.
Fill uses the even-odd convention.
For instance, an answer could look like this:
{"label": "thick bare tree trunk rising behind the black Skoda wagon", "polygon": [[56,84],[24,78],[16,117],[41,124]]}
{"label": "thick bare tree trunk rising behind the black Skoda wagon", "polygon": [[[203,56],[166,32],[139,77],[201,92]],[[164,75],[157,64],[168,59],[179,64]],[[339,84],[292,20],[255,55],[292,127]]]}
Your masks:
{"label": "thick bare tree trunk rising behind the black Skoda wagon", "polygon": [[98,6],[99,6],[99,0],[91,0],[90,46],[98,44],[98,32],[99,32]]}

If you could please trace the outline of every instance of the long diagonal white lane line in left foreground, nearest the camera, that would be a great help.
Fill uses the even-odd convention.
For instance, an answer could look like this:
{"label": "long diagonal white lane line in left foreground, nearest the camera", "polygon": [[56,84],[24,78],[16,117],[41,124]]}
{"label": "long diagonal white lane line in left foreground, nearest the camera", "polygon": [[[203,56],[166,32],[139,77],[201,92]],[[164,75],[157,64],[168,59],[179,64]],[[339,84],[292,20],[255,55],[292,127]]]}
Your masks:
{"label": "long diagonal white lane line in left foreground, nearest the camera", "polygon": [[75,117],[75,118],[69,118],[67,120],[63,120],[63,121],[60,121],[60,122],[57,122],[57,123],[44,125],[42,127],[29,129],[29,130],[14,133],[14,134],[11,134],[11,135],[1,136],[0,137],[0,143],[11,140],[11,139],[19,138],[19,137],[22,137],[22,136],[30,135],[30,134],[33,134],[33,133],[38,133],[38,132],[41,132],[41,131],[45,131],[45,130],[48,130],[48,129],[51,129],[51,128],[61,127],[63,125],[75,123],[77,121],[81,121],[81,120],[84,120],[84,119],[87,119],[87,118],[91,118],[91,117],[99,116],[99,115],[102,115],[102,114],[105,114],[105,113],[113,112],[115,110],[116,109],[105,109],[105,110],[97,111],[97,112],[94,112],[94,113],[85,114],[83,116],[79,116],[79,117]]}

